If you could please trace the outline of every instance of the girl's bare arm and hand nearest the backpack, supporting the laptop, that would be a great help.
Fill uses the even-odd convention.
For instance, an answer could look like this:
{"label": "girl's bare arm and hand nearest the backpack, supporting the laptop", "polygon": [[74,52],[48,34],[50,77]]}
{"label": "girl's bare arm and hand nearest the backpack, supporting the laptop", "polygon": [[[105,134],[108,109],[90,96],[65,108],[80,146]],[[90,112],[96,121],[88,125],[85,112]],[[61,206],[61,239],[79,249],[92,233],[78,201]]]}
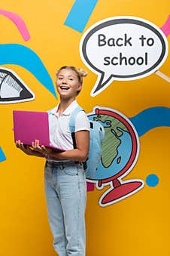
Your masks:
{"label": "girl's bare arm and hand nearest the backpack, supporting the laptop", "polygon": [[35,140],[35,143],[32,144],[32,147],[38,152],[46,155],[52,156],[57,160],[71,160],[77,162],[85,162],[89,153],[90,147],[90,131],[77,131],[75,133],[75,140],[77,149],[66,150],[64,152],[56,152],[46,148],[44,146],[39,146],[39,141]]}

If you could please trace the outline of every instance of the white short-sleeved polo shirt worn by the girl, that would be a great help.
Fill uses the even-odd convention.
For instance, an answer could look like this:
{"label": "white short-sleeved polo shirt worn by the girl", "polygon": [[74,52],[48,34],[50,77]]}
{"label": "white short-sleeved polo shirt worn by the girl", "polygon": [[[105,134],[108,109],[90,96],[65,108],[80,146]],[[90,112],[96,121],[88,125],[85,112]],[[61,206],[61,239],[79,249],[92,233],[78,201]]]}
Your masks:
{"label": "white short-sleeved polo shirt worn by the girl", "polygon": [[[48,112],[50,126],[50,144],[63,150],[72,150],[73,140],[69,129],[69,121],[72,111],[78,106],[74,100],[67,109],[59,116],[59,104]],[[84,111],[77,113],[75,118],[75,132],[90,131],[90,121]]]}

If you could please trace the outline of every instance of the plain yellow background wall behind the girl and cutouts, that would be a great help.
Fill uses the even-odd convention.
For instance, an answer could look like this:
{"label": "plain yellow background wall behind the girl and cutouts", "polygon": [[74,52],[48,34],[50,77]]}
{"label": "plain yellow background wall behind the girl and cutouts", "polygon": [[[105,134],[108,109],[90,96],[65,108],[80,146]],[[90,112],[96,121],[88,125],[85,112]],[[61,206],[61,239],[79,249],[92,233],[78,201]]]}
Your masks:
{"label": "plain yellow background wall behind the girl and cutouts", "polygon": [[[59,66],[71,64],[87,69],[79,55],[82,34],[64,25],[73,4],[73,0],[1,1],[0,8],[23,18],[31,39],[25,42],[14,23],[0,15],[0,43],[31,48],[41,58],[53,82]],[[161,27],[169,12],[168,0],[99,1],[85,29],[99,20],[120,15],[142,17]],[[11,64],[3,66],[23,79],[34,91],[35,100],[0,105],[0,147],[7,157],[0,162],[0,254],[55,255],[44,199],[44,160],[25,156],[15,147],[12,110],[46,111],[56,105],[56,99],[28,70]],[[160,71],[170,76],[169,66],[168,56]],[[90,97],[97,76],[88,71],[77,98],[87,113],[96,105],[117,109],[127,117],[153,106],[170,107],[169,83],[156,74],[135,81],[115,81],[101,94]],[[154,173],[159,177],[156,187],[145,184],[135,195],[105,208],[99,206],[98,200],[106,187],[88,193],[87,256],[170,255],[169,140],[167,127],[154,128],[140,137],[138,162],[126,177],[145,180]]]}

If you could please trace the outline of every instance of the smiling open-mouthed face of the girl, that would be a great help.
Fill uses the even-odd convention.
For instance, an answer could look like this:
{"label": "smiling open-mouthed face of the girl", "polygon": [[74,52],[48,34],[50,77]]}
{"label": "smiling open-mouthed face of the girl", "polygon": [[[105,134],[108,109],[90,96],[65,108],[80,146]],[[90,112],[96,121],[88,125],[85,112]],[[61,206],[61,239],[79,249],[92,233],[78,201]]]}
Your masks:
{"label": "smiling open-mouthed face of the girl", "polygon": [[56,89],[62,98],[75,98],[80,92],[82,84],[76,72],[71,69],[61,69],[56,76]]}

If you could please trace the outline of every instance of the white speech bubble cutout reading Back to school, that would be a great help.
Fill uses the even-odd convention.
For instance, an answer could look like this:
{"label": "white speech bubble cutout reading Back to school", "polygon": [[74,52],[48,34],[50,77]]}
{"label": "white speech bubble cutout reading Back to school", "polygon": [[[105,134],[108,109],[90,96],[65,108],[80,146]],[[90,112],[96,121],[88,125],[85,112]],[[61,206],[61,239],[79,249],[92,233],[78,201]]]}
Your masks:
{"label": "white speech bubble cutout reading Back to school", "polygon": [[138,17],[100,20],[80,40],[80,57],[98,75],[91,96],[114,80],[150,76],[168,56],[168,41],[159,27]]}

